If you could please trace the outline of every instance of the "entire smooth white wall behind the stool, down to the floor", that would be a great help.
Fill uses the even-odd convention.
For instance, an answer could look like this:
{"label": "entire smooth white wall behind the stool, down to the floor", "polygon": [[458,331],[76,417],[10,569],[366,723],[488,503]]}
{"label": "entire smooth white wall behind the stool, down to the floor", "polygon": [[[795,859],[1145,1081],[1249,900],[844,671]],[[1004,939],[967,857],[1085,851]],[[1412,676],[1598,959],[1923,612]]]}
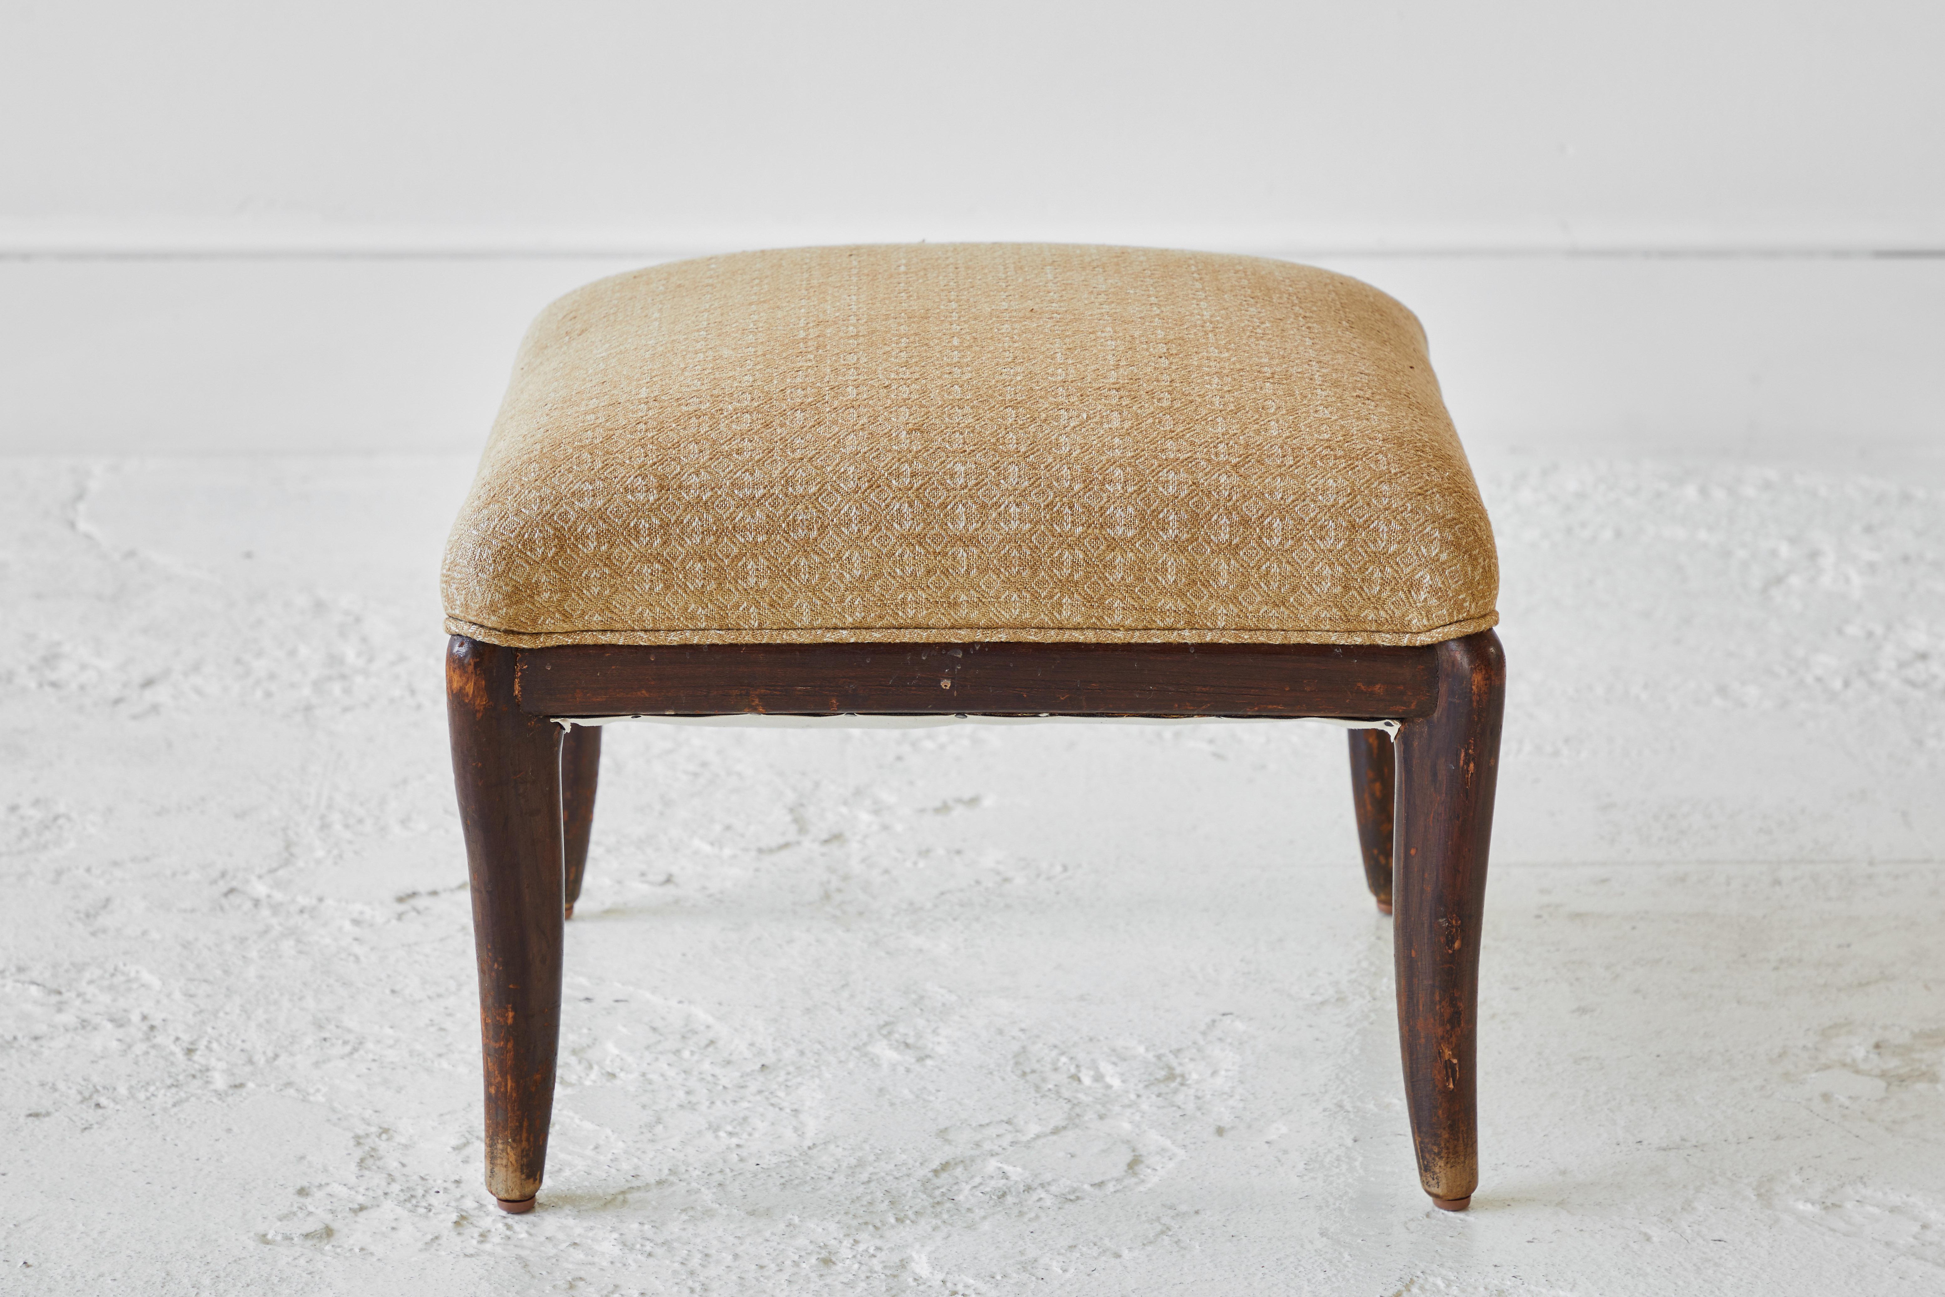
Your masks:
{"label": "entire smooth white wall behind the stool, down to the floor", "polygon": [[1945,408],[1920,0],[4,14],[0,449],[465,449],[556,292],[867,239],[1325,261],[1426,317],[1474,443]]}

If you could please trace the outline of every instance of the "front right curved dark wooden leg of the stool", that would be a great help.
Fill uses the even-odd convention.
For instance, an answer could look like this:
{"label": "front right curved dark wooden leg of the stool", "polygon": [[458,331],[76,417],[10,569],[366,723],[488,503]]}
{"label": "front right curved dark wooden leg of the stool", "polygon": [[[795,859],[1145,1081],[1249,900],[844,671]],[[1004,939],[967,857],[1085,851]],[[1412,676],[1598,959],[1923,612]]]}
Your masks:
{"label": "front right curved dark wooden leg of the stool", "polygon": [[1418,1178],[1433,1204],[1463,1211],[1478,1186],[1478,937],[1505,655],[1490,630],[1437,651],[1437,712],[1397,741],[1393,943]]}

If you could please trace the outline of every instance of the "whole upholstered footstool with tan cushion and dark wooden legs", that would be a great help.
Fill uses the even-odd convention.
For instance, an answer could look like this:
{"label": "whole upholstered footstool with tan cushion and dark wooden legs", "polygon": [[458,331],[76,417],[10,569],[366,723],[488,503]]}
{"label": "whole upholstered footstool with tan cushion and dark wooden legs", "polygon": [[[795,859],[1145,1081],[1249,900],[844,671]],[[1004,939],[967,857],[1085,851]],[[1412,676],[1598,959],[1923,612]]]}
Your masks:
{"label": "whole upholstered footstool with tan cushion and dark wooden legs", "polygon": [[445,552],[486,1184],[533,1206],[613,716],[1149,716],[1350,733],[1420,1180],[1478,1180],[1505,667],[1418,321],[1253,257],[832,247],[655,266],[529,331]]}

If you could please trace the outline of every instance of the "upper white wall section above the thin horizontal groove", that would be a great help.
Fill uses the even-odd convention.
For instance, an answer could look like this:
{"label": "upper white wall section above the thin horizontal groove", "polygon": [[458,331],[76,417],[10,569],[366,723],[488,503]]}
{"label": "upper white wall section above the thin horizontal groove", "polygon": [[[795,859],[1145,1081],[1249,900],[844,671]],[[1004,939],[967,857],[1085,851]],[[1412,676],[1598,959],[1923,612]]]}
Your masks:
{"label": "upper white wall section above the thin horizontal groove", "polygon": [[10,4],[16,247],[1939,247],[1924,0]]}

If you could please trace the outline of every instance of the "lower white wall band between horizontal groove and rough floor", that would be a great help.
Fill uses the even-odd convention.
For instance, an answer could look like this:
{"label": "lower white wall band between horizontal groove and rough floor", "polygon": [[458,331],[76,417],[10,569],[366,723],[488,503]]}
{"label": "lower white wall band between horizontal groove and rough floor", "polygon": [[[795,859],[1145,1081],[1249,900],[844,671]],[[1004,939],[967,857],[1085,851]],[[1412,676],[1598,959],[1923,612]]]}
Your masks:
{"label": "lower white wall band between horizontal groove and rough floor", "polygon": [[[1474,453],[1945,445],[1945,259],[1317,261],[1418,311]],[[0,451],[477,451],[533,313],[634,264],[0,263]]]}

